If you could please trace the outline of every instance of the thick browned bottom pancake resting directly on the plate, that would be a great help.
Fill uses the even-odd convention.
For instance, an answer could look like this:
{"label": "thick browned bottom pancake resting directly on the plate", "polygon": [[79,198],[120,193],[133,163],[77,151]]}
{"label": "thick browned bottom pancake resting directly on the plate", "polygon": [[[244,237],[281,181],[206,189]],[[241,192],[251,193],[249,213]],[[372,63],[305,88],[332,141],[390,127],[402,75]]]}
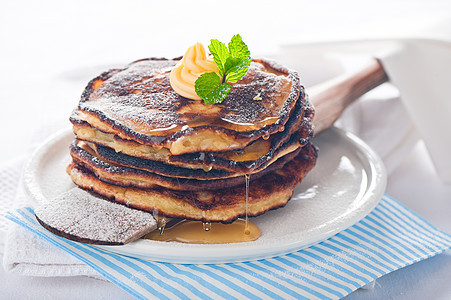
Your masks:
{"label": "thick browned bottom pancake resting directly on the plate", "polygon": [[[313,168],[317,151],[308,143],[283,168],[270,172],[251,182],[247,213],[260,215],[270,209],[284,206],[294,187]],[[141,189],[121,187],[99,180],[91,171],[74,163],[67,172],[81,188],[91,190],[129,207],[159,215],[204,222],[232,222],[246,213],[245,186],[213,191],[174,191],[166,188]]]}

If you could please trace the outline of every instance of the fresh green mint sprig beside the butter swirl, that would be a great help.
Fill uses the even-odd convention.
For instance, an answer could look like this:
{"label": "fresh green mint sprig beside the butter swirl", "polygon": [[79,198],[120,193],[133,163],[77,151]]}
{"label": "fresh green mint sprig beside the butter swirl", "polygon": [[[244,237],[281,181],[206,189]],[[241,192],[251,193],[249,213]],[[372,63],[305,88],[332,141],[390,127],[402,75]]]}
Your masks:
{"label": "fresh green mint sprig beside the butter swirl", "polygon": [[213,60],[218,66],[215,72],[204,73],[197,78],[194,89],[205,104],[221,103],[232,89],[230,82],[237,82],[246,75],[251,64],[251,53],[239,34],[226,45],[216,39],[208,45]]}

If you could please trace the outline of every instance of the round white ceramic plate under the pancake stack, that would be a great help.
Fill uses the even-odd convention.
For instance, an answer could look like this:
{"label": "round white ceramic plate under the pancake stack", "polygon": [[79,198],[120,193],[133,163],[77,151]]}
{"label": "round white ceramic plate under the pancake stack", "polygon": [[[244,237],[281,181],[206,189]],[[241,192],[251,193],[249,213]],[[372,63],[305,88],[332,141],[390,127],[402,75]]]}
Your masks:
{"label": "round white ceramic plate under the pancake stack", "polygon": [[[39,203],[74,187],[65,168],[72,132],[64,130],[34,153],[24,174],[26,190]],[[354,135],[333,128],[316,137],[316,167],[284,208],[252,218],[262,236],[253,242],[196,245],[138,240],[107,251],[172,263],[238,262],[277,256],[321,242],[352,226],[379,202],[386,173],[379,157]]]}

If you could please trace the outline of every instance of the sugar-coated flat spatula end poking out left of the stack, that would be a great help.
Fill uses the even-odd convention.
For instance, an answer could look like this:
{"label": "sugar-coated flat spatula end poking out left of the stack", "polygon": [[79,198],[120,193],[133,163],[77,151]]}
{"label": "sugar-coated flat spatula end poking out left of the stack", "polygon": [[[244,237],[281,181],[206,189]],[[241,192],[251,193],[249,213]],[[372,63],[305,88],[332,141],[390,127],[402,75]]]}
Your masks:
{"label": "sugar-coated flat spatula end poking out left of the stack", "polygon": [[126,244],[156,229],[152,214],[97,198],[79,188],[42,203],[35,213],[57,234],[92,243]]}

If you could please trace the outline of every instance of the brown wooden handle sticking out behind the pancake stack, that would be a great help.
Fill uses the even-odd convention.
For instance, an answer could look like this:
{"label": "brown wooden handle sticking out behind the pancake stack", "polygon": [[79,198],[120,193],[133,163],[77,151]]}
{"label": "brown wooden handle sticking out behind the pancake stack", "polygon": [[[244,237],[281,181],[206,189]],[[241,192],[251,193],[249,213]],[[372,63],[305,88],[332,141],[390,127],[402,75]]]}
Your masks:
{"label": "brown wooden handle sticking out behind the pancake stack", "polygon": [[343,110],[360,96],[388,81],[379,61],[371,63],[352,74],[344,74],[307,90],[315,107],[315,135],[332,127]]}

